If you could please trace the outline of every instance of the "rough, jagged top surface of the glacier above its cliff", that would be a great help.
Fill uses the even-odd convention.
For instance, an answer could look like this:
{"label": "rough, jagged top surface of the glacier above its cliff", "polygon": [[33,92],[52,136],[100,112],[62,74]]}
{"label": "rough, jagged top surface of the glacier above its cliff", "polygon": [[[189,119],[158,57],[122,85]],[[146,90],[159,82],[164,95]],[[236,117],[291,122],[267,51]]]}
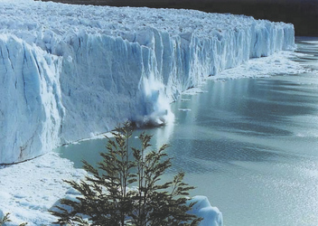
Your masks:
{"label": "rough, jagged top surface of the glacier above its cliff", "polygon": [[[123,36],[155,27],[170,33],[211,36],[255,23],[253,17],[233,14],[207,14],[185,9],[151,9],[93,5],[65,5],[51,2],[0,0],[0,31],[14,33],[25,40],[39,31],[65,33],[105,33]],[[262,22],[260,22],[262,23]],[[125,36],[125,35],[124,35]],[[32,38],[32,37],[29,37]]]}

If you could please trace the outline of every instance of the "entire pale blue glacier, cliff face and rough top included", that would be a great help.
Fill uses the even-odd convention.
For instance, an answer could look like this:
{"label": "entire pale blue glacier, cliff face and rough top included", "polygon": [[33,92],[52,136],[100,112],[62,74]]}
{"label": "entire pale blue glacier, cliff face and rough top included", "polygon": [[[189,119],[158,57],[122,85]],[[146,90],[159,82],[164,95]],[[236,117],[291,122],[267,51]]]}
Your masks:
{"label": "entire pale blue glacier, cliff face and rough top included", "polygon": [[294,26],[193,10],[0,0],[0,164],[126,119],[162,123],[185,89],[294,48]]}

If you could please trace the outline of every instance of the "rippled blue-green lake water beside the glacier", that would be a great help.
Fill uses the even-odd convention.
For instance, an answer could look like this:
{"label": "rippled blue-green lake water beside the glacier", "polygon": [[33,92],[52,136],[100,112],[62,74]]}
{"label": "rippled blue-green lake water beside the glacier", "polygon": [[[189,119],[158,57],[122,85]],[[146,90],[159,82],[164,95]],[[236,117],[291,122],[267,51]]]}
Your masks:
{"label": "rippled blue-green lake water beside the glacier", "polygon": [[[314,39],[313,39],[314,40]],[[225,225],[318,225],[318,39],[298,38],[309,71],[263,79],[208,81],[173,103],[172,125],[147,129],[168,143],[170,173],[183,170]],[[139,131],[136,131],[139,133]],[[57,151],[76,167],[99,161],[105,140]],[[167,175],[169,176],[169,175]]]}

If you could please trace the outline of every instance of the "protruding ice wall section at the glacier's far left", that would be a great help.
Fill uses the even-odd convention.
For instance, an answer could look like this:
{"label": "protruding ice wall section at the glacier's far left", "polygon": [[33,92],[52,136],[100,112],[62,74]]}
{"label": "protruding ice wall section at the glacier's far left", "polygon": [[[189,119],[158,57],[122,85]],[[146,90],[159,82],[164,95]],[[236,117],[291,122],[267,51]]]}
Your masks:
{"label": "protruding ice wall section at the glacier's far left", "polygon": [[60,143],[60,62],[40,48],[0,35],[0,163],[42,155]]}

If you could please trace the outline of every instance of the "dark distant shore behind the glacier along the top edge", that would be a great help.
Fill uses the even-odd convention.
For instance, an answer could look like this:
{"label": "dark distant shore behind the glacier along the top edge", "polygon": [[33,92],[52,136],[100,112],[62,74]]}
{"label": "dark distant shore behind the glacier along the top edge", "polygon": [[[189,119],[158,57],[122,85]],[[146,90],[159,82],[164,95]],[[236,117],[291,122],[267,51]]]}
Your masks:
{"label": "dark distant shore behind the glacier along the top edge", "polygon": [[[46,2],[49,0],[42,0]],[[297,36],[318,36],[318,1],[311,0],[50,0],[76,5],[187,8],[209,13],[246,14],[295,25]],[[257,3],[256,3],[257,2]]]}

